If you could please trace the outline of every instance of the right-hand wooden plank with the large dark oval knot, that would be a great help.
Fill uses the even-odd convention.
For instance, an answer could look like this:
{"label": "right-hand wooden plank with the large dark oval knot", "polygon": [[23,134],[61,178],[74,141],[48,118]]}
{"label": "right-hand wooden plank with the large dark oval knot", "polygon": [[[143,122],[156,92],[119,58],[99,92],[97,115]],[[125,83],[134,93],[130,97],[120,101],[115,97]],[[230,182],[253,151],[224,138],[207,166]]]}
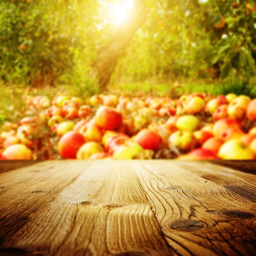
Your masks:
{"label": "right-hand wooden plank with the large dark oval knot", "polygon": [[[145,161],[133,165],[157,221],[177,254],[255,255],[253,197],[201,177],[202,172],[214,172],[214,165],[209,164],[207,170],[202,169],[204,164],[198,167],[189,161]],[[195,172],[198,168],[199,173]],[[224,169],[222,172],[229,174]],[[250,186],[255,189],[255,175],[252,176]]]}

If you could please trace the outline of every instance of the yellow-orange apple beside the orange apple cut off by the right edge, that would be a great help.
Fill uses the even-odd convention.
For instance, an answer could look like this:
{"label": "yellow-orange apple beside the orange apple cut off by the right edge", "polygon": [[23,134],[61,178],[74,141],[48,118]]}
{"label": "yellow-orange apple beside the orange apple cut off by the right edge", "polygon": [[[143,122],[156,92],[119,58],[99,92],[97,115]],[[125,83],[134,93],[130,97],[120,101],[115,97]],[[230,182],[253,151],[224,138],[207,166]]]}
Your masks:
{"label": "yellow-orange apple beside the orange apple cut off by the right edge", "polygon": [[227,113],[230,118],[243,119],[246,115],[247,107],[250,103],[250,97],[240,95],[228,105]]}

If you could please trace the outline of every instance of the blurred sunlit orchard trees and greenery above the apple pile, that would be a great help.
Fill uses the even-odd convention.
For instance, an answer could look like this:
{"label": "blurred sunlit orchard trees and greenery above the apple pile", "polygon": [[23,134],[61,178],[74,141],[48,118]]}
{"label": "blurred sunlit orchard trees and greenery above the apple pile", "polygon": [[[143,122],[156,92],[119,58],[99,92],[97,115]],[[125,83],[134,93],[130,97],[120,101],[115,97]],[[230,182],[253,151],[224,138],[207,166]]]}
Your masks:
{"label": "blurred sunlit orchard trees and greenery above the apple pile", "polygon": [[2,85],[252,93],[255,60],[254,0],[0,1]]}

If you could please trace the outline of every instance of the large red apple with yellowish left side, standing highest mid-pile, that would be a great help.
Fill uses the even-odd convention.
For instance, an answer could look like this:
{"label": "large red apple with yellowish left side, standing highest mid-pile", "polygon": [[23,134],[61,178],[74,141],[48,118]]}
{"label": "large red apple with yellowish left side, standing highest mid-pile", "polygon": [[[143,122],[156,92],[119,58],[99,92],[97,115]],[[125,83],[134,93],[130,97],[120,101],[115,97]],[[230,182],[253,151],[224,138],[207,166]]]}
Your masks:
{"label": "large red apple with yellowish left side, standing highest mid-pile", "polygon": [[96,112],[95,124],[104,130],[116,130],[122,125],[122,114],[114,108],[102,106]]}

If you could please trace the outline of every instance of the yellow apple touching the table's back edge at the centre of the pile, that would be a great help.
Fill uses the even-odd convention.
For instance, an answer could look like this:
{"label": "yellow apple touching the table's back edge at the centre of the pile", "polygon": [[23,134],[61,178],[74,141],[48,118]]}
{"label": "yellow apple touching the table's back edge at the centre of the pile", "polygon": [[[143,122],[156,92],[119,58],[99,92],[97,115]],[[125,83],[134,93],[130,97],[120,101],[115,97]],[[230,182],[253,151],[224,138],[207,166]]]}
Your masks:
{"label": "yellow apple touching the table's back edge at the centre of the pile", "polygon": [[143,151],[143,147],[131,140],[126,140],[122,145],[118,145],[113,148],[114,159],[133,159],[140,152]]}

